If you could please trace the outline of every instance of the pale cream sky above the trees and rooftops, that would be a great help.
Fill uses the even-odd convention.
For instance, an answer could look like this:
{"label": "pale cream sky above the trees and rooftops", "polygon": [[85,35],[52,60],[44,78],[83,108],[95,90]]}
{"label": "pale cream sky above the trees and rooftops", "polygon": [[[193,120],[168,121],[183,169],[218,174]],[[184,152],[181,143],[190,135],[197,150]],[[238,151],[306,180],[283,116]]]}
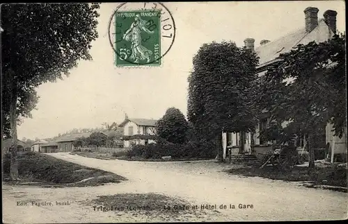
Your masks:
{"label": "pale cream sky above the trees and rooftops", "polygon": [[[238,1],[166,2],[176,26],[175,41],[161,67],[118,68],[109,44],[108,23],[120,3],[102,3],[92,42],[93,60],[79,61],[70,76],[38,87],[40,96],[32,119],[17,128],[18,137],[54,137],[73,128],[97,128],[102,123],[130,118],[159,119],[168,107],[187,114],[187,77],[192,58],[200,46],[231,40],[244,46],[244,39],[276,40],[304,27],[308,6],[335,10],[338,31],[345,31],[344,1]],[[128,3],[131,4],[131,3]]]}

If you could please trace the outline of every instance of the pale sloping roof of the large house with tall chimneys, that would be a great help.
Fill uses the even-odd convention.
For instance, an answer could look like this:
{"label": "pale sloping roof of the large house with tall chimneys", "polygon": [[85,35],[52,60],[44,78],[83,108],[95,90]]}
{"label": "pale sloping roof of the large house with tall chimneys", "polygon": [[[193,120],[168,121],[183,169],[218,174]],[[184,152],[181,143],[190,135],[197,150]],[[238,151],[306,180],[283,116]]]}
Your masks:
{"label": "pale sloping roof of the large house with tall chimneys", "polygon": [[299,44],[308,44],[309,42],[325,42],[333,37],[333,31],[325,23],[324,19],[319,19],[318,26],[310,33],[306,32],[303,27],[297,31],[289,33],[267,44],[263,44],[255,49],[255,52],[260,58],[260,65],[263,67],[271,62],[274,62],[280,53],[291,51],[291,49]]}

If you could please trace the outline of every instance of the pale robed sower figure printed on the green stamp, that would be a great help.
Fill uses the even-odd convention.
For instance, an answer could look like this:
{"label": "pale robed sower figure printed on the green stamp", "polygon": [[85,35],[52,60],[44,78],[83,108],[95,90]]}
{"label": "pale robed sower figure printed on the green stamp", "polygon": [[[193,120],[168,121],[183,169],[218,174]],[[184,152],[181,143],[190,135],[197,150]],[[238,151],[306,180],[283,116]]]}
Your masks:
{"label": "pale robed sower figure printed on the green stamp", "polygon": [[136,63],[138,63],[139,60],[147,60],[147,62],[150,62],[150,55],[152,55],[152,51],[141,45],[142,31],[145,31],[146,33],[154,33],[154,31],[150,31],[145,27],[145,20],[141,19],[140,15],[138,14],[135,15],[134,22],[123,35],[123,39],[131,42],[132,44],[132,55],[130,55],[130,58]]}

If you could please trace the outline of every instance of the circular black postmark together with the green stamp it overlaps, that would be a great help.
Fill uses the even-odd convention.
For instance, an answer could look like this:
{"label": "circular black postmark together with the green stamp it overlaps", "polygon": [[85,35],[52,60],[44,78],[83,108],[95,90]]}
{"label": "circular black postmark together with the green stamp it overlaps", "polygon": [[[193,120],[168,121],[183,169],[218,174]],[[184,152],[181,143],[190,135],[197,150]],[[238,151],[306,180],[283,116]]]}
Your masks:
{"label": "circular black postmark together with the green stamp it overlaps", "polygon": [[159,2],[122,3],[109,20],[117,67],[161,65],[175,40],[175,21]]}

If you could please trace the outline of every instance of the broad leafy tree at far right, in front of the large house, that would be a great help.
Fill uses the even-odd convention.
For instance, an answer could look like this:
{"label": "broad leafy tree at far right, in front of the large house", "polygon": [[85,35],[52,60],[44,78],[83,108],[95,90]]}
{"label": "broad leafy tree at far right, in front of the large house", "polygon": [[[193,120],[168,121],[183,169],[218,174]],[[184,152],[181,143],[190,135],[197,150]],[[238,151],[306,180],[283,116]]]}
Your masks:
{"label": "broad leafy tree at far right, in front of the large house", "polygon": [[345,62],[345,35],[300,44],[278,57],[261,85],[260,103],[274,121],[308,139],[310,169],[315,133],[333,123],[334,135],[342,137],[347,127]]}

